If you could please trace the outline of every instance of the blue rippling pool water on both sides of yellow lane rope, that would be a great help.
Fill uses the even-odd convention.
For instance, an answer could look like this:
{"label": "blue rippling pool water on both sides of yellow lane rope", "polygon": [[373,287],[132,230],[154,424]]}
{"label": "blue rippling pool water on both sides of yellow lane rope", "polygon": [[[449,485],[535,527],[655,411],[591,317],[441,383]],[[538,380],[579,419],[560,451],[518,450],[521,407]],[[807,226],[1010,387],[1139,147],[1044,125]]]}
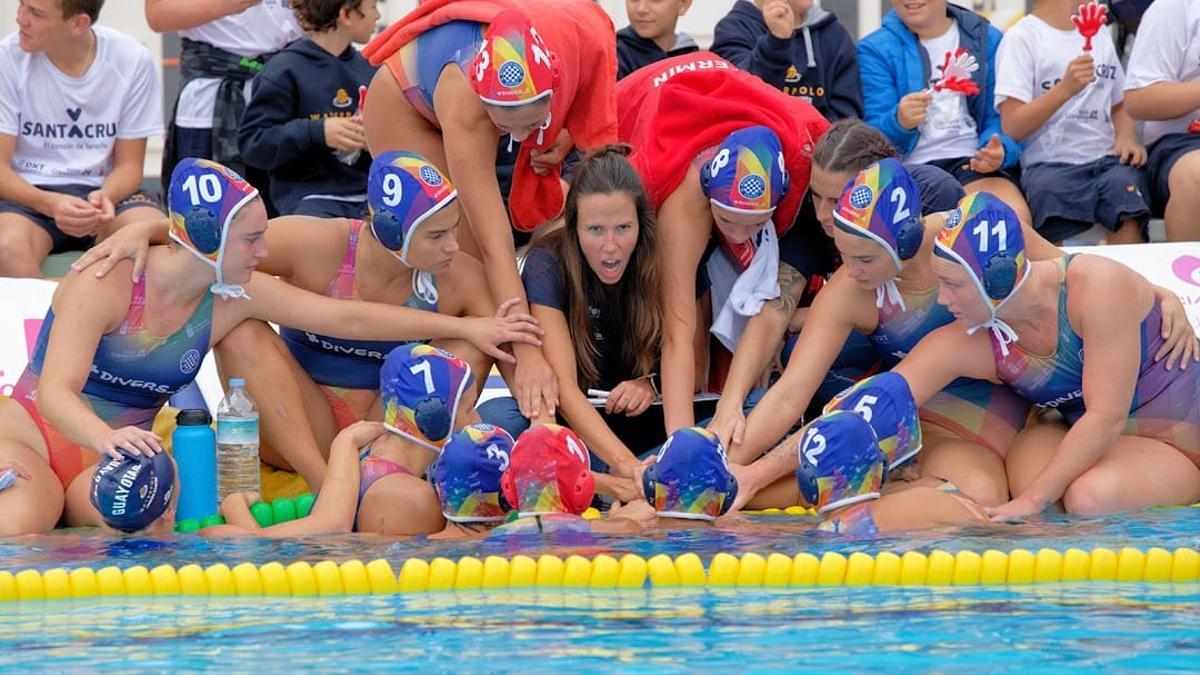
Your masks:
{"label": "blue rippling pool water on both sides of yellow lane rope", "polygon": [[[588,542],[112,540],[68,531],[0,542],[0,569],[517,552],[794,554],[1076,545],[1200,546],[1200,509],[845,539],[811,520]],[[0,605],[0,669],[1194,669],[1200,585],[426,593],[158,598]]]}

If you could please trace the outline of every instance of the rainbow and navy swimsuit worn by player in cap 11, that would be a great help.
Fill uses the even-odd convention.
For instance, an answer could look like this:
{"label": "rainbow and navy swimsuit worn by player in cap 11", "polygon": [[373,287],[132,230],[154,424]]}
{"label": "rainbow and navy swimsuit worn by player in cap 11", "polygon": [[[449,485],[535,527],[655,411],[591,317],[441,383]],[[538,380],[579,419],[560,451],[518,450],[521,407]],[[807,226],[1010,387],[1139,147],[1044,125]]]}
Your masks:
{"label": "rainbow and navy swimsuit worn by player in cap 11", "polygon": [[[996,375],[1034,405],[1058,410],[1068,425],[1086,412],[1084,341],[1067,316],[1067,265],[1073,258],[1058,262],[1058,339],[1051,354],[1032,354],[1018,341],[1003,356],[992,336]],[[1156,298],[1141,319],[1141,363],[1124,434],[1163,441],[1200,466],[1200,369],[1166,370],[1165,359],[1154,362],[1163,346],[1162,323]]]}

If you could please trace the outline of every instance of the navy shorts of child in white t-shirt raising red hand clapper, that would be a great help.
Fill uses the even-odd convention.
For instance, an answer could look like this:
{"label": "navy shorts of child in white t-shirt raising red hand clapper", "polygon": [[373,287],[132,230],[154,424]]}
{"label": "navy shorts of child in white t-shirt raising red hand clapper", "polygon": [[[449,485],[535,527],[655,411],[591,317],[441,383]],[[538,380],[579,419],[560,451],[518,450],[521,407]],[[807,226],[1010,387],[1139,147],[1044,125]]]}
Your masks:
{"label": "navy shorts of child in white t-shirt raising red hand clapper", "polygon": [[1062,241],[1100,223],[1116,232],[1134,219],[1145,235],[1150,183],[1144,169],[1108,156],[1090,165],[1044,162],[1025,167],[1021,189],[1038,233]]}

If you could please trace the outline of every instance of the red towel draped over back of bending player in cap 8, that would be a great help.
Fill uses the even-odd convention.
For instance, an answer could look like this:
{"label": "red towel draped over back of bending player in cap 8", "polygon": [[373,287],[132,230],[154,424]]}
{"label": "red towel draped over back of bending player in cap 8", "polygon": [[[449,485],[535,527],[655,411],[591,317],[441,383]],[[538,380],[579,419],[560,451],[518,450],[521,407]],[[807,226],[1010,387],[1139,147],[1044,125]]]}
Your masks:
{"label": "red towel draped over back of bending player in cap 8", "polygon": [[[632,145],[630,159],[655,209],[679,187],[700,153],[739,129],[762,125],[774,131],[792,179],[773,216],[780,235],[792,227],[808,192],[812,147],[829,129],[810,103],[737,70],[712,52],[694,52],[634,71],[617,84],[617,115],[620,141]],[[728,243],[726,247],[731,249]],[[745,267],[746,253],[752,256],[754,251],[731,253]]]}

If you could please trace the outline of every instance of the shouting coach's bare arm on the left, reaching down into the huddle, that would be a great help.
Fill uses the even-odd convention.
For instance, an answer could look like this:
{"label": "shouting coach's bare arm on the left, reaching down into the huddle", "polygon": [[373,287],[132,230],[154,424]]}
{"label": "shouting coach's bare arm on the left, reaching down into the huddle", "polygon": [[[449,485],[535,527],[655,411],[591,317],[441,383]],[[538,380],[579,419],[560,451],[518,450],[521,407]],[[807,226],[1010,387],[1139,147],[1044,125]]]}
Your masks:
{"label": "shouting coach's bare arm on the left, reaching down into the huddle", "polygon": [[595,453],[612,471],[619,476],[632,476],[637,458],[612,432],[600,413],[596,412],[587,396],[580,390],[575,369],[575,347],[571,342],[570,328],[562,311],[545,305],[534,305],[533,316],[542,330],[542,351],[558,378],[559,412],[570,424],[588,449]]}

